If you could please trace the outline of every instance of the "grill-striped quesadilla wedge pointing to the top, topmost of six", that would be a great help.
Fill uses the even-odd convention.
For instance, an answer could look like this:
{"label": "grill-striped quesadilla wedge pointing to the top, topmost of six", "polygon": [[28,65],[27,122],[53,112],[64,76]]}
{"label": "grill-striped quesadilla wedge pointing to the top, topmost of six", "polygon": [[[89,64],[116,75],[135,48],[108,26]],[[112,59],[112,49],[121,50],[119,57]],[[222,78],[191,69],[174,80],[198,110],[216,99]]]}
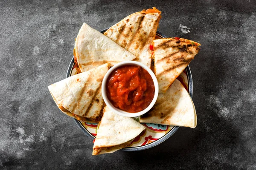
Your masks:
{"label": "grill-striped quesadilla wedge pointing to the top, topmost of six", "polygon": [[154,8],[129,15],[109,28],[104,35],[130,51],[149,68],[151,66],[150,45],[155,39],[161,11]]}

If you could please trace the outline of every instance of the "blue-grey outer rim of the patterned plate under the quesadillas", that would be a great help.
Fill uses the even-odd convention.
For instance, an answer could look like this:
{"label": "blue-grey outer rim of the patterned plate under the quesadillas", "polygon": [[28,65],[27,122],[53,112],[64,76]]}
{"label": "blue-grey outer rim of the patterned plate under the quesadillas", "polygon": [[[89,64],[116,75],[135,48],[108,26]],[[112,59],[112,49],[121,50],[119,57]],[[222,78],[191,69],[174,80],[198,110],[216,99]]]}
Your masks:
{"label": "blue-grey outer rim of the patterned plate under the quesadillas", "polygon": [[[101,33],[104,33],[105,31],[107,31],[108,28],[100,31]],[[160,37],[166,38],[166,36],[164,34],[162,34],[160,31],[157,31],[157,35],[159,35]],[[66,74],[66,78],[70,77],[70,74],[72,72],[72,68],[74,66],[74,57],[72,58],[70,65],[68,67],[67,70],[67,74]],[[189,95],[192,99],[192,94],[193,94],[193,80],[192,80],[192,74],[189,68],[189,65],[185,68],[186,73],[187,73],[187,79],[188,79],[188,86],[189,86]],[[73,118],[74,119],[74,118]],[[76,125],[80,128],[80,130],[82,132],[84,132],[84,134],[88,137],[90,137],[91,139],[95,139],[95,137],[89,132],[87,131],[87,129],[84,128],[84,126],[81,124],[81,122],[79,122],[78,120],[74,119]],[[166,133],[166,135],[162,136],[161,138],[157,139],[155,142],[143,145],[143,146],[137,146],[137,147],[125,147],[121,150],[123,151],[139,151],[139,150],[145,150],[145,149],[149,149],[151,147],[154,147],[162,142],[164,142],[166,139],[168,139],[170,136],[172,136],[176,130],[179,128],[179,126],[174,126],[172,128],[172,130],[170,130],[168,133]]]}

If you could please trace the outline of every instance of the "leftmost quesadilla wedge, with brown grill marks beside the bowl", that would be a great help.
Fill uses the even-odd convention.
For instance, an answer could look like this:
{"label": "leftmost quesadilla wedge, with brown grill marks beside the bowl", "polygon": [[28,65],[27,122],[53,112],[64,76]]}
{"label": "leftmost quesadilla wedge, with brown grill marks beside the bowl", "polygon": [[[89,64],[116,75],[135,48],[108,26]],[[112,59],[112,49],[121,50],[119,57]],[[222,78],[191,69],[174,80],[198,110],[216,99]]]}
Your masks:
{"label": "leftmost quesadilla wedge, with brown grill marks beside the bowl", "polygon": [[105,107],[101,85],[109,67],[110,64],[106,63],[49,85],[48,89],[58,108],[83,122],[98,122]]}

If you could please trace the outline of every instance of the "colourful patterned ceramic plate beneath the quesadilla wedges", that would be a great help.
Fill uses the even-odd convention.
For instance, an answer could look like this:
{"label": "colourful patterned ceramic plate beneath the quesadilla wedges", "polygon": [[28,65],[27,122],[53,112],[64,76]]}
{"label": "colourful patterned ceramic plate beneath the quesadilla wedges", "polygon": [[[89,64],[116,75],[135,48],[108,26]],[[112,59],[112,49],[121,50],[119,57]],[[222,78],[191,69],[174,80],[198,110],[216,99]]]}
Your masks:
{"label": "colourful patterned ceramic plate beneath the quesadilla wedges", "polygon": [[[104,33],[107,29],[101,31],[101,33]],[[159,31],[157,31],[156,38],[164,38],[163,34],[161,34]],[[74,67],[74,57],[70,62],[70,66],[67,71],[67,76],[70,77],[77,74],[76,68]],[[183,71],[183,73],[180,74],[180,76],[177,78],[186,88],[186,90],[189,92],[189,95],[192,98],[193,93],[193,84],[192,84],[192,75],[190,72],[189,66],[186,67],[186,69]],[[139,117],[136,118],[136,120],[139,120]],[[76,122],[76,125],[79,126],[79,128],[91,139],[95,139],[97,135],[97,123],[85,123],[80,122],[76,119],[74,119]],[[122,150],[125,151],[137,151],[137,150],[144,150],[148,149],[150,147],[154,147],[157,144],[162,143],[166,139],[168,139],[170,136],[172,136],[173,133],[179,128],[178,126],[169,126],[169,125],[159,125],[159,124],[153,124],[153,123],[143,123],[143,125],[146,127],[146,129],[140,133],[139,136],[137,136],[132,142],[129,147],[125,147]]]}

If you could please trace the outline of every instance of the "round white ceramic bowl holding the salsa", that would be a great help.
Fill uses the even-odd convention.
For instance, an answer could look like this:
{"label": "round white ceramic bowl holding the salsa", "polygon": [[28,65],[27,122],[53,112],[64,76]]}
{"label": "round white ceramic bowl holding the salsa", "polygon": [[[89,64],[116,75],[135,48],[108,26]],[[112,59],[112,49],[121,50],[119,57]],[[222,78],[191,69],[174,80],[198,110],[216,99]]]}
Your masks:
{"label": "round white ceramic bowl holding the salsa", "polygon": [[[155,87],[155,92],[154,92],[154,98],[152,100],[152,102],[148,105],[147,108],[145,108],[143,111],[137,112],[137,113],[129,113],[126,111],[122,111],[119,108],[114,107],[111,102],[109,101],[108,97],[107,97],[107,92],[106,92],[106,83],[107,83],[107,79],[109,77],[109,75],[116,69],[119,68],[123,65],[138,65],[142,68],[144,68],[146,71],[148,71],[148,73],[150,74],[150,76],[153,79],[154,82],[154,87]],[[125,117],[137,117],[137,116],[141,116],[144,113],[148,112],[155,104],[155,102],[157,101],[157,96],[158,96],[158,82],[157,82],[157,77],[154,75],[153,71],[151,71],[150,68],[148,68],[146,65],[137,62],[137,61],[124,61],[124,62],[119,62],[118,64],[114,65],[113,67],[111,67],[108,72],[106,73],[103,81],[102,81],[102,97],[104,99],[104,102],[106,103],[106,105],[111,109],[111,111],[113,111],[114,113],[120,115],[120,116],[125,116]]]}

